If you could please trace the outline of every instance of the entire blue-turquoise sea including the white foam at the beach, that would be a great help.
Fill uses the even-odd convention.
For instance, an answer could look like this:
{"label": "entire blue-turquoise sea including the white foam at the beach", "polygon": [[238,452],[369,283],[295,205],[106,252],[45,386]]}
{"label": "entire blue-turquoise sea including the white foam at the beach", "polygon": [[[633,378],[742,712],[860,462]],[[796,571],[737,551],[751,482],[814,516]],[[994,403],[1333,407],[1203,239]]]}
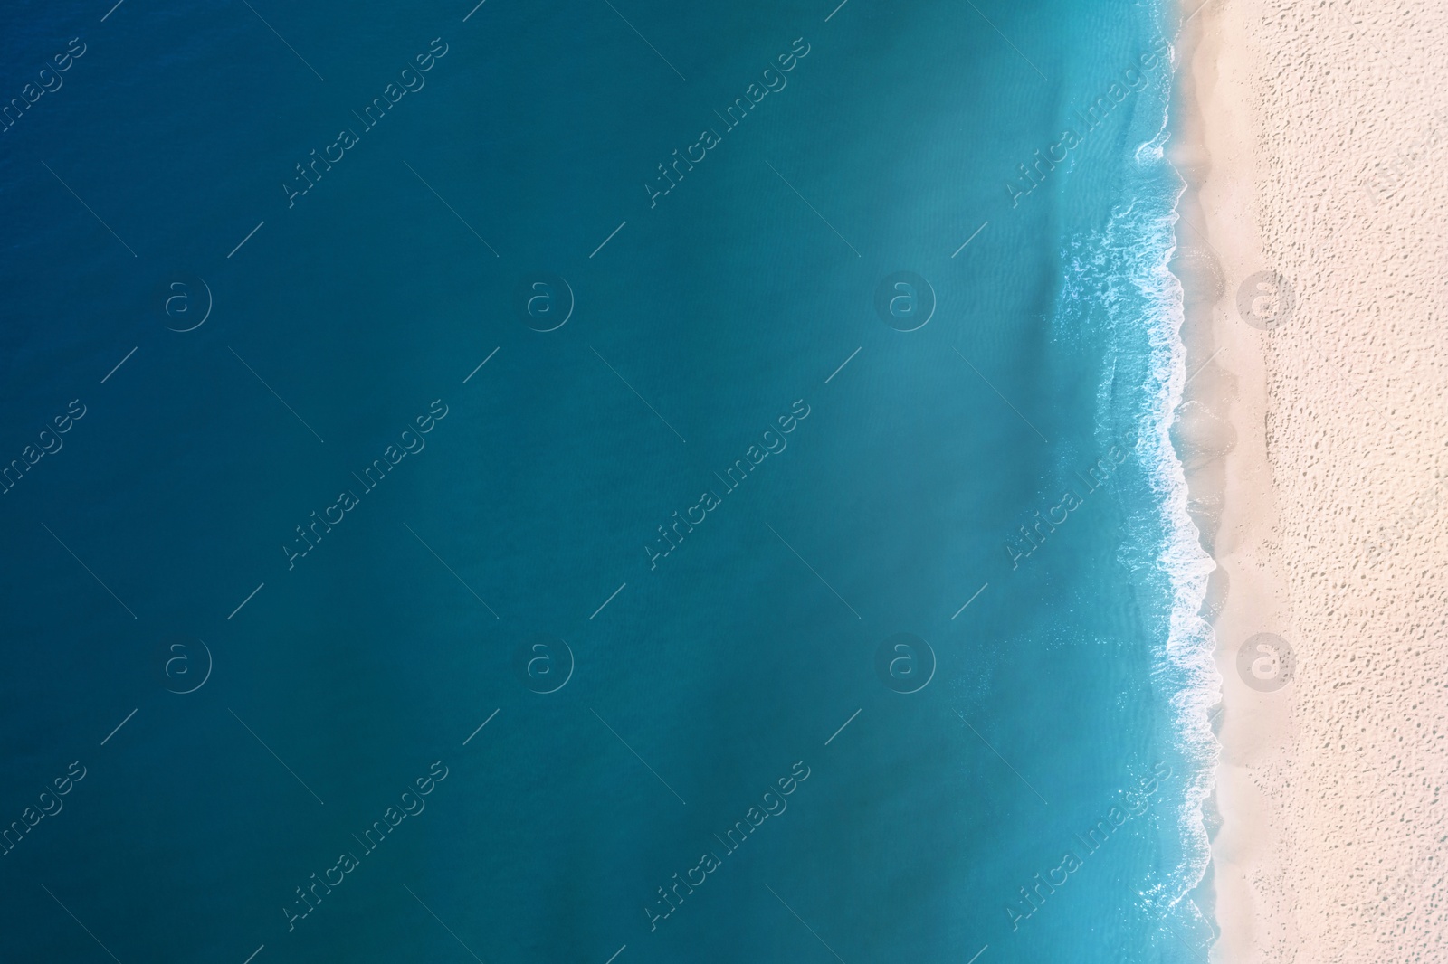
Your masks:
{"label": "entire blue-turquoise sea including the white foam at the beach", "polygon": [[471,7],[0,13],[0,960],[1195,960],[1176,12]]}

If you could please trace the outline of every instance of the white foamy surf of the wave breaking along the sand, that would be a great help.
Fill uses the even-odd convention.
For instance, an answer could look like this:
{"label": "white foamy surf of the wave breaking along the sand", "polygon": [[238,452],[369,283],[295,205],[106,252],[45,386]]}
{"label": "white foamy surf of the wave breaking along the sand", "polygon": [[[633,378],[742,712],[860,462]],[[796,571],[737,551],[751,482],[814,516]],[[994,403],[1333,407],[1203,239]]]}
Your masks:
{"label": "white foamy surf of the wave breaking along the sand", "polygon": [[[1098,446],[1135,430],[1140,491],[1128,507],[1122,559],[1148,602],[1153,682],[1169,716],[1184,780],[1173,825],[1180,855],[1142,892],[1144,908],[1202,923],[1187,900],[1211,861],[1203,805],[1215,787],[1218,743],[1211,712],[1221,701],[1222,679],[1213,659],[1212,627],[1199,615],[1215,562],[1202,549],[1187,512],[1186,473],[1171,441],[1171,426],[1186,386],[1182,284],[1169,265],[1176,250],[1176,203],[1184,182],[1166,159],[1167,104],[1163,98],[1156,132],[1128,155],[1129,203],[1112,210],[1098,233],[1072,239],[1063,252],[1066,276],[1053,334],[1079,342],[1083,327],[1103,326],[1106,352],[1098,384]],[[1147,119],[1138,123],[1145,124]],[[1092,317],[1085,317],[1092,316]],[[1076,329],[1076,330],[1073,330]]]}

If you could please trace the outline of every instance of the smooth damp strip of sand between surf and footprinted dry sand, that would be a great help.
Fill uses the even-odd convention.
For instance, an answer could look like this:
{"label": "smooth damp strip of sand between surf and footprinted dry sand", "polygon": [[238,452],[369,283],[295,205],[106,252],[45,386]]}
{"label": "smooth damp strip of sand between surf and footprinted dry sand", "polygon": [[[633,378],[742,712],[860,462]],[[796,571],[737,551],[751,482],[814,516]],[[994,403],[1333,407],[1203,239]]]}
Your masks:
{"label": "smooth damp strip of sand between surf and footprinted dry sand", "polygon": [[[1224,4],[1209,3],[1177,38],[1177,123],[1169,158],[1186,187],[1177,200],[1171,269],[1183,288],[1187,381],[1174,437],[1189,512],[1215,563],[1200,615],[1212,625],[1222,676],[1222,702],[1209,716],[1219,756],[1203,803],[1211,864],[1192,896],[1215,928],[1213,960],[1254,961],[1264,948],[1253,881],[1266,874],[1279,881],[1277,893],[1290,890],[1273,860],[1287,841],[1274,838],[1251,769],[1289,753],[1292,695],[1248,689],[1232,650],[1238,638],[1258,631],[1289,635],[1290,617],[1263,553],[1276,515],[1266,358],[1257,333],[1234,317],[1231,305],[1232,281],[1253,274],[1261,253],[1251,230],[1257,223],[1251,129],[1242,123],[1241,91],[1231,88],[1232,67],[1222,64],[1229,55],[1224,20]],[[1222,217],[1224,210],[1232,216]],[[1293,934],[1283,936],[1296,945]]]}

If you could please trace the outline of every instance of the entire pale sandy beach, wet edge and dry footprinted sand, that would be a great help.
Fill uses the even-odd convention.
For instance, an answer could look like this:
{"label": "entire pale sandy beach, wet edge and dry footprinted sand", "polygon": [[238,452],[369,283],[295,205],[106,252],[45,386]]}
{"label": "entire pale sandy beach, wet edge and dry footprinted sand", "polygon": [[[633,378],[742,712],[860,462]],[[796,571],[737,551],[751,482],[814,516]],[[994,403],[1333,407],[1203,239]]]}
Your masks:
{"label": "entire pale sandy beach, wet edge and dry footprinted sand", "polygon": [[1448,7],[1195,7],[1177,436],[1219,566],[1213,960],[1444,961]]}

